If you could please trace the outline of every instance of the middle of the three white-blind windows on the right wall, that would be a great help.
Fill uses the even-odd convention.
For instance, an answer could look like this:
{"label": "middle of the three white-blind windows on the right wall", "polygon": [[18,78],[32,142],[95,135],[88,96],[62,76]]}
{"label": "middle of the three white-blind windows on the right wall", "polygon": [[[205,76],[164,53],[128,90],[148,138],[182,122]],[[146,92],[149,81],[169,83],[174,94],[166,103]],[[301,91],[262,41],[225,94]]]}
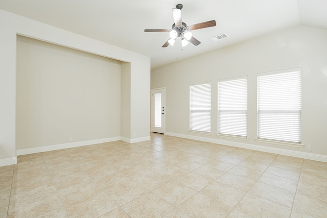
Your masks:
{"label": "middle of the three white-blind windows on the right wall", "polygon": [[218,134],[247,136],[247,77],[218,82]]}

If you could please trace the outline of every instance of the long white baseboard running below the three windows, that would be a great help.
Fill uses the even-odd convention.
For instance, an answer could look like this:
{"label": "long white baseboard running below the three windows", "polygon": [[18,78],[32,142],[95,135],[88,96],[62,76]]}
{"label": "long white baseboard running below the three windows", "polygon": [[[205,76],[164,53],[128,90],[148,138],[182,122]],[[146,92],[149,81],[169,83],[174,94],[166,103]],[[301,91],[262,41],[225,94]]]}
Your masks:
{"label": "long white baseboard running below the three windows", "polygon": [[221,139],[215,139],[215,138],[206,138],[206,137],[201,137],[201,136],[186,135],[186,134],[179,134],[179,133],[173,133],[173,132],[166,132],[165,134],[170,135],[170,136],[180,137],[180,138],[188,138],[188,139],[193,139],[193,140],[198,140],[198,141],[223,144],[224,146],[232,146],[232,147],[237,147],[237,148],[250,149],[250,150],[255,150],[255,151],[269,152],[269,153],[273,153],[273,154],[280,154],[280,155],[304,158],[304,159],[309,159],[309,160],[317,160],[317,161],[327,162],[327,155],[314,154],[314,153],[308,153],[308,152],[299,152],[299,151],[279,149],[279,148],[273,148],[273,147],[267,147],[267,146],[257,146],[255,144],[248,144],[248,143],[242,143],[242,142],[236,142],[236,141],[227,141],[227,140],[221,140]]}

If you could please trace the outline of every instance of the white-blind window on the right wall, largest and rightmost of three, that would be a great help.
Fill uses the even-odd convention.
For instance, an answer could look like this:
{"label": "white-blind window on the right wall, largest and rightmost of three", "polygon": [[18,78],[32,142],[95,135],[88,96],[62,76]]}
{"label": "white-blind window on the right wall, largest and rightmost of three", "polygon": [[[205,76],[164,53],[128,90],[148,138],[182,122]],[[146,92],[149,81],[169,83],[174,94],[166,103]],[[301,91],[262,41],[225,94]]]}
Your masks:
{"label": "white-blind window on the right wall, largest and rightmost of three", "polygon": [[258,74],[258,138],[301,142],[300,68]]}

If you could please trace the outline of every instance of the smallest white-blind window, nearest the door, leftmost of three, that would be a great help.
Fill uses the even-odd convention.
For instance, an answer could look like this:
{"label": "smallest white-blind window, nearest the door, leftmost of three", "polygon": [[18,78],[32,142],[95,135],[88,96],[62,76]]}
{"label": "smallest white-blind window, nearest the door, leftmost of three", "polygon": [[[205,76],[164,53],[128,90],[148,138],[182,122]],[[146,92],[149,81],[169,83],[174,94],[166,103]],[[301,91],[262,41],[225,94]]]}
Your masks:
{"label": "smallest white-blind window, nearest the door, leftmost of three", "polygon": [[211,132],[211,83],[190,86],[190,130]]}

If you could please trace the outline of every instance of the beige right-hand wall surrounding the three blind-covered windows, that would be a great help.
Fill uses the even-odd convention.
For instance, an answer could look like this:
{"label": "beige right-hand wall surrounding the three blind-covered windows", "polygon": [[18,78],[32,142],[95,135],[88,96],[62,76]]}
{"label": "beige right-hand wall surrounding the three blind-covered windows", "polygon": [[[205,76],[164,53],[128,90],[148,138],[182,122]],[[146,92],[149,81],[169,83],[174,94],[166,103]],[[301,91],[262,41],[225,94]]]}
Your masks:
{"label": "beige right-hand wall surrounding the three blind-covered windows", "polygon": [[[308,153],[306,147],[255,140],[256,75],[295,67],[302,67],[302,143],[312,146]],[[246,75],[248,140],[218,137],[217,82]],[[206,81],[212,83],[212,134],[189,133],[189,86]],[[327,161],[327,30],[299,26],[152,70],[151,88],[157,87],[166,87],[167,134]]]}

